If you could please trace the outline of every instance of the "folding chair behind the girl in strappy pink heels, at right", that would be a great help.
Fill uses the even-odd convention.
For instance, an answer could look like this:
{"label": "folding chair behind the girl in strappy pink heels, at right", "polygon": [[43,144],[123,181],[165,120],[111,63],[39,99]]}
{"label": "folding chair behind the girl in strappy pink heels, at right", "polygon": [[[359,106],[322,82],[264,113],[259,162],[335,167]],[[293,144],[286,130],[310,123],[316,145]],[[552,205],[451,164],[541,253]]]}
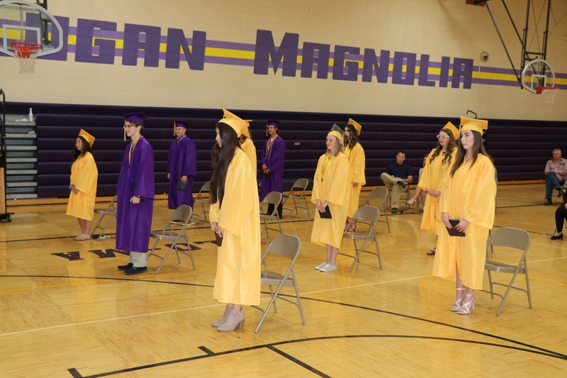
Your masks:
{"label": "folding chair behind the girl in strappy pink heels, at right", "polygon": [[[488,238],[488,242],[486,243],[486,262],[484,268],[488,270],[488,283],[490,284],[490,298],[494,299],[495,295],[502,297],[502,301],[500,302],[500,306],[498,306],[498,311],[496,311],[496,315],[500,315],[500,311],[504,306],[504,302],[507,299],[508,294],[510,293],[510,289],[517,289],[524,291],[527,294],[527,301],[529,303],[529,308],[532,308],[532,294],[529,291],[529,277],[527,274],[527,250],[529,249],[529,244],[531,240],[529,238],[529,234],[524,231],[520,230],[519,228],[510,228],[510,227],[503,227],[497,230],[495,233],[490,235]],[[488,249],[492,248],[493,246],[500,246],[500,247],[508,247],[510,250],[506,250],[506,252],[514,252],[511,257],[508,257],[507,260],[517,260],[517,256],[520,254],[518,250],[521,251],[520,261],[517,263],[508,264],[505,262],[497,262],[493,260],[489,260]],[[498,250],[498,248],[497,248]],[[500,273],[511,273],[512,279],[510,279],[510,283],[503,284],[500,282],[494,282],[492,279],[491,272],[500,272]],[[526,277],[526,289],[522,289],[520,287],[515,287],[514,281],[518,274],[524,274]],[[495,293],[493,290],[493,285],[501,285],[506,287],[506,292],[504,295]]]}

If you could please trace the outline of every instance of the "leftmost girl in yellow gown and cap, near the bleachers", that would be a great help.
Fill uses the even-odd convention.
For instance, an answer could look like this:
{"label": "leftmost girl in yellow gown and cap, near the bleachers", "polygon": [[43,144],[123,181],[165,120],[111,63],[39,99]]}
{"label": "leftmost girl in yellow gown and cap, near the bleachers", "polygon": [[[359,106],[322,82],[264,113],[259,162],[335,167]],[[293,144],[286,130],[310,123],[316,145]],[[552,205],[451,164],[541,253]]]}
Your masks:
{"label": "leftmost girl in yellow gown and cap, near the bleachers", "polygon": [[91,238],[91,223],[94,218],[94,202],[96,200],[96,182],[99,170],[92,154],[94,136],[81,129],[75,139],[73,148],[73,164],[71,165],[71,182],[69,184],[69,203],[67,215],[79,221],[81,234],[74,240]]}

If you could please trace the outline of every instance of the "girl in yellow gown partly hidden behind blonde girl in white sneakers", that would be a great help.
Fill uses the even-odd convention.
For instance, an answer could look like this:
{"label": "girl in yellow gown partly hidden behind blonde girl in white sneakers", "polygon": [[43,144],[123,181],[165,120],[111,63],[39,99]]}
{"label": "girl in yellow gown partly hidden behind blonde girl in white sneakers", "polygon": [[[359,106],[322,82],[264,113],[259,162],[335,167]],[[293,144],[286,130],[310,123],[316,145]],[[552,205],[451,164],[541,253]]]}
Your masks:
{"label": "girl in yellow gown partly hidden behind blonde girl in white sneakers", "polygon": [[[352,218],[354,212],[359,208],[360,190],[362,186],[366,184],[366,176],[364,175],[366,155],[364,155],[364,148],[362,148],[359,143],[361,130],[362,126],[352,118],[349,118],[349,124],[344,128],[344,133],[348,137],[344,153],[349,159],[350,172],[352,175],[347,223],[349,222],[349,218]],[[356,225],[354,226],[354,230],[356,230]]]}

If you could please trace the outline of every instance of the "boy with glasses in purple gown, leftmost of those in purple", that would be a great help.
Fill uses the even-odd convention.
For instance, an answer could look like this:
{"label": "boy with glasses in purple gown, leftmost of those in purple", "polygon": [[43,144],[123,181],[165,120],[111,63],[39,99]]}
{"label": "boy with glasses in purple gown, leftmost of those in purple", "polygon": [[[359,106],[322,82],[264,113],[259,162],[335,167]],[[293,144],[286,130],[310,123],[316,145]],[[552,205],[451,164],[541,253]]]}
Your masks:
{"label": "boy with glasses in purple gown, leftmost of those in purple", "polygon": [[118,266],[125,274],[147,271],[146,253],[150,243],[155,178],[154,150],[142,136],[144,113],[124,115],[125,137],[130,138],[118,176],[116,249],[130,252],[130,261]]}

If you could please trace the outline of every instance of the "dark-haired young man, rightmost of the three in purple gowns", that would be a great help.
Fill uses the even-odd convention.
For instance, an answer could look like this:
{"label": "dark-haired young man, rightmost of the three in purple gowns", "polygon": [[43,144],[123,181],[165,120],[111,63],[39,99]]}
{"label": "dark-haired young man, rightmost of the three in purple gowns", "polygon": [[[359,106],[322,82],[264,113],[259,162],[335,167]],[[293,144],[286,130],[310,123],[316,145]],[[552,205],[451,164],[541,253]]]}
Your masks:
{"label": "dark-haired young man, rightmost of the three in purple gowns", "polygon": [[[283,161],[286,159],[286,143],[279,136],[279,122],[266,123],[268,140],[262,150],[262,174],[260,179],[260,201],[270,191],[283,192]],[[268,213],[274,211],[274,206],[268,206]],[[281,204],[278,206],[281,218]]]}

